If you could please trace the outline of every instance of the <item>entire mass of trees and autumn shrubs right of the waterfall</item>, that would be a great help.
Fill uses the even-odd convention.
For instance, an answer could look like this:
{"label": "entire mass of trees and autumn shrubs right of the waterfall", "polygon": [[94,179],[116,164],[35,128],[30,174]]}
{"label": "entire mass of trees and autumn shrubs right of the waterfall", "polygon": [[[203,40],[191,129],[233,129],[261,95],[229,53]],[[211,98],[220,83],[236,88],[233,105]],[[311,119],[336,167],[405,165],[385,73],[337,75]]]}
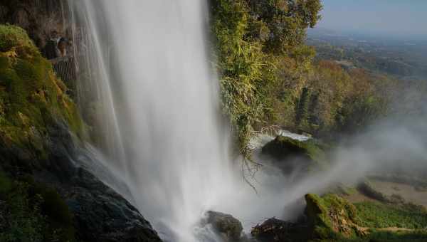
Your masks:
{"label": "entire mass of trees and autumn shrubs right of the waterfall", "polygon": [[305,31],[320,19],[319,0],[210,3],[223,112],[246,158],[253,131],[262,127],[334,138],[386,115],[386,88],[396,80],[314,61]]}

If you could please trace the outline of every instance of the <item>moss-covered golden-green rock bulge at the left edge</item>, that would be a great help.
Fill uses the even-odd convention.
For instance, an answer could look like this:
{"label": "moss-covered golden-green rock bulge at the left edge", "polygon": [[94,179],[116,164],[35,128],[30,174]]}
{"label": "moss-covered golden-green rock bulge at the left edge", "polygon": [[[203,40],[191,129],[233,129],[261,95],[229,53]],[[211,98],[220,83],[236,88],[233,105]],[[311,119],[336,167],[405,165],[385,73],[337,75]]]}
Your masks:
{"label": "moss-covered golden-green rock bulge at the left edge", "polygon": [[[82,137],[78,109],[22,28],[0,25],[0,142],[26,160],[48,158],[49,127],[65,123]],[[4,155],[4,154],[3,154]]]}

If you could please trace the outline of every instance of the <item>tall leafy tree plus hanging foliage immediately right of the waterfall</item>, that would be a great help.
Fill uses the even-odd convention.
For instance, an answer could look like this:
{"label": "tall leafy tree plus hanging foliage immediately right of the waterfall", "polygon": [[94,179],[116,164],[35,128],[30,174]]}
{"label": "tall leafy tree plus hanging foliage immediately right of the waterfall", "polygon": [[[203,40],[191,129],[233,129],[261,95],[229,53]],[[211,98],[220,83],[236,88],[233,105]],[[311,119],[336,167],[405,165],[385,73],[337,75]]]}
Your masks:
{"label": "tall leafy tree plus hanging foliage immediately right of the waterfall", "polygon": [[305,28],[319,19],[320,1],[211,0],[210,5],[223,111],[235,128],[238,151],[250,159],[253,130],[277,119],[280,58],[294,54],[305,63],[314,56],[302,42]]}

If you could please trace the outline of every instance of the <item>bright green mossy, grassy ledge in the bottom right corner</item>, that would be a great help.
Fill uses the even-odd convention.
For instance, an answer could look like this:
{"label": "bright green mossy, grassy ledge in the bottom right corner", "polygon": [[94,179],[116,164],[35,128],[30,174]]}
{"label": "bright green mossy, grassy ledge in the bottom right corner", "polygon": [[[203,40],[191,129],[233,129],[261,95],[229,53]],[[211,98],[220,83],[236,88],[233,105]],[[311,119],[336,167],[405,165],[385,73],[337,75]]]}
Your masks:
{"label": "bright green mossy, grassy ledge in the bottom right corner", "polygon": [[[350,204],[334,194],[307,194],[305,200],[311,241],[397,242],[427,238],[423,230],[427,226],[427,211],[423,206],[373,201]],[[404,229],[390,229],[393,227]]]}

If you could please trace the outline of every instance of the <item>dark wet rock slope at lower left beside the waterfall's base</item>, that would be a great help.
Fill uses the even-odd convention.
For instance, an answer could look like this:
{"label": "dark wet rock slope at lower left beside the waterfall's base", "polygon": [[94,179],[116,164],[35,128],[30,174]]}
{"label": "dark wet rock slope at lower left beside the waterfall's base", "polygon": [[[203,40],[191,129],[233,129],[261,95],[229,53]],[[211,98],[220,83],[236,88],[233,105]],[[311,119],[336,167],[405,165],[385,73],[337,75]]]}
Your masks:
{"label": "dark wet rock slope at lower left beside the waterfall's base", "polygon": [[71,174],[66,181],[46,173],[36,177],[56,187],[68,204],[78,241],[161,241],[149,222],[120,194],[83,168],[73,168],[68,173]]}

